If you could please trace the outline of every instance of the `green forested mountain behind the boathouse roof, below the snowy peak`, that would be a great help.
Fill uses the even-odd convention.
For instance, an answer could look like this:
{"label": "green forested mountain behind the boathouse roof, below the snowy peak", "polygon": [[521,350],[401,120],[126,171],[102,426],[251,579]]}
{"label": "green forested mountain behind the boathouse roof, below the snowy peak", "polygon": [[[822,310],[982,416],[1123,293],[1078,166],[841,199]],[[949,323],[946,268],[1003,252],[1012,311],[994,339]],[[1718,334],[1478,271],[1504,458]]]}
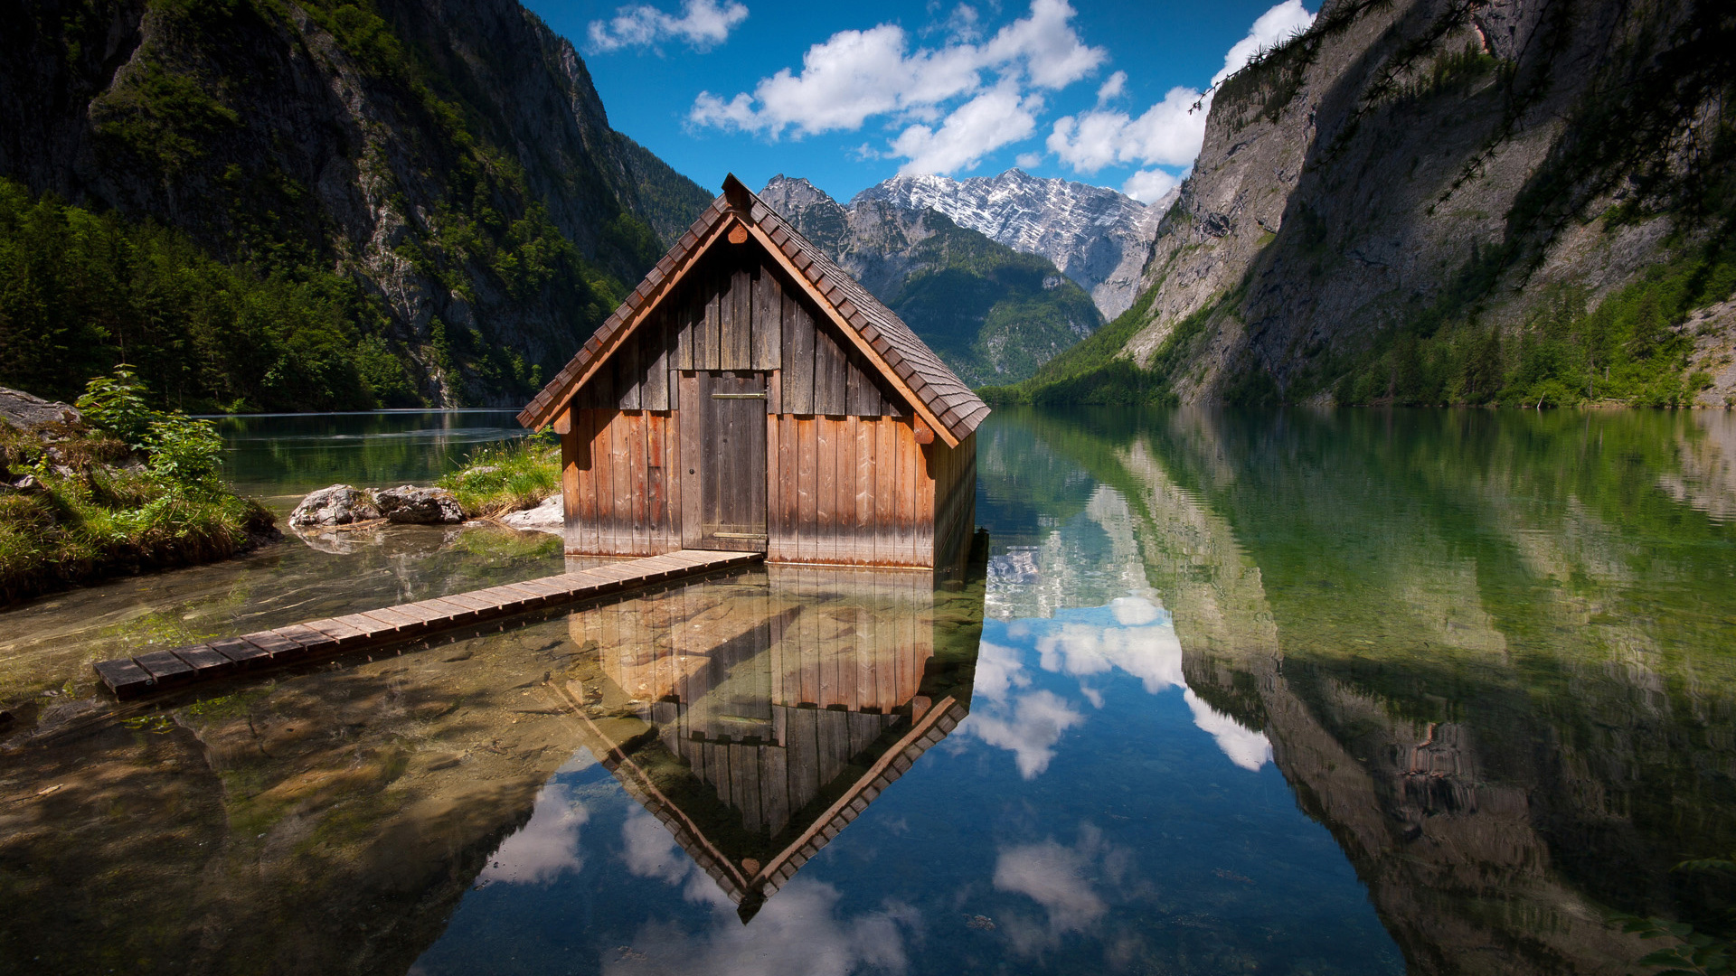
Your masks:
{"label": "green forested mountain behind the boathouse roof, below the snowy peak", "polygon": [[1035,254],[927,208],[773,177],[760,200],[856,276],[970,386],[1029,377],[1102,325],[1083,288]]}

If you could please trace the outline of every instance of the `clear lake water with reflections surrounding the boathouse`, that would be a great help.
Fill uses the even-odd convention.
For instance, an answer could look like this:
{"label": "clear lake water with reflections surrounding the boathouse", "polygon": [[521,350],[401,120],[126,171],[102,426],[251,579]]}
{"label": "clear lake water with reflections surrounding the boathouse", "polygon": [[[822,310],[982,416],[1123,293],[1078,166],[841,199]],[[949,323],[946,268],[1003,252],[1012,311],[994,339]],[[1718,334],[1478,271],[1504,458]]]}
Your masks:
{"label": "clear lake water with reflections surrounding the boathouse", "polygon": [[[286,511],[507,413],[233,422]],[[1726,938],[1736,422],[1019,412],[986,564],[773,568],[141,705],[118,651],[559,571],[297,538],[0,613],[3,973],[1649,973]]]}

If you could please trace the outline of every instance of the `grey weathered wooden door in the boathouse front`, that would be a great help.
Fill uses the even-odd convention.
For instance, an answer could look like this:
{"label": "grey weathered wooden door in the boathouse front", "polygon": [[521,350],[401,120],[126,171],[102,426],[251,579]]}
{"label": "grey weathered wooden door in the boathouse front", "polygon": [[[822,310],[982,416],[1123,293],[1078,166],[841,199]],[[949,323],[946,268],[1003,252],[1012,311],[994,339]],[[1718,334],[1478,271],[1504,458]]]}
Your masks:
{"label": "grey weathered wooden door in the boathouse front", "polygon": [[766,373],[698,372],[681,391],[689,471],[682,545],[766,551]]}

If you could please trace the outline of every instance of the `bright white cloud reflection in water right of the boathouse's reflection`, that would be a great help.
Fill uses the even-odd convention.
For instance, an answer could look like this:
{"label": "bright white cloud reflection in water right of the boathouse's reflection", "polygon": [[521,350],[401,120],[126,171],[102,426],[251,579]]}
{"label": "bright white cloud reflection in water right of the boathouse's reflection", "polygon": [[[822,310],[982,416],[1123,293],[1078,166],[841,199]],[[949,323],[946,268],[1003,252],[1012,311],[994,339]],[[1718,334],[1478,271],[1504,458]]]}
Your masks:
{"label": "bright white cloud reflection in water right of the boathouse's reflection", "polygon": [[[1182,644],[1170,613],[1142,596],[1109,601],[1102,608],[1062,610],[1052,620],[1016,620],[1005,634],[1031,639],[1038,665],[1052,674],[1080,679],[1080,695],[1102,709],[1102,691],[1085,684],[1085,677],[1121,670],[1141,681],[1146,693],[1182,689],[1194,726],[1208,733],[1231,762],[1243,769],[1260,769],[1272,757],[1266,735],[1212,709],[1187,688],[1182,677]],[[1038,776],[1055,755],[1061,733],[1085,721],[1066,698],[1054,691],[1029,691],[1031,676],[1017,648],[983,641],[977,658],[976,693],[979,707],[960,726],[990,745],[1012,750],[1019,775]]]}

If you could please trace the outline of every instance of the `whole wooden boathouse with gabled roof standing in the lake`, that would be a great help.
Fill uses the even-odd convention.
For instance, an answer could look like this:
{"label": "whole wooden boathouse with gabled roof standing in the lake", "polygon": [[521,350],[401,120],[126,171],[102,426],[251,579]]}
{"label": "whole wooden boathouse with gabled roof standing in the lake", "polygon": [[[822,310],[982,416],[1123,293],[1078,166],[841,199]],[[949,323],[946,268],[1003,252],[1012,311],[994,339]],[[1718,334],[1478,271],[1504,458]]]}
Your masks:
{"label": "whole wooden boathouse with gabled roof standing in the lake", "polygon": [[988,406],[734,175],[519,413],[561,436],[568,556],[950,566]]}

